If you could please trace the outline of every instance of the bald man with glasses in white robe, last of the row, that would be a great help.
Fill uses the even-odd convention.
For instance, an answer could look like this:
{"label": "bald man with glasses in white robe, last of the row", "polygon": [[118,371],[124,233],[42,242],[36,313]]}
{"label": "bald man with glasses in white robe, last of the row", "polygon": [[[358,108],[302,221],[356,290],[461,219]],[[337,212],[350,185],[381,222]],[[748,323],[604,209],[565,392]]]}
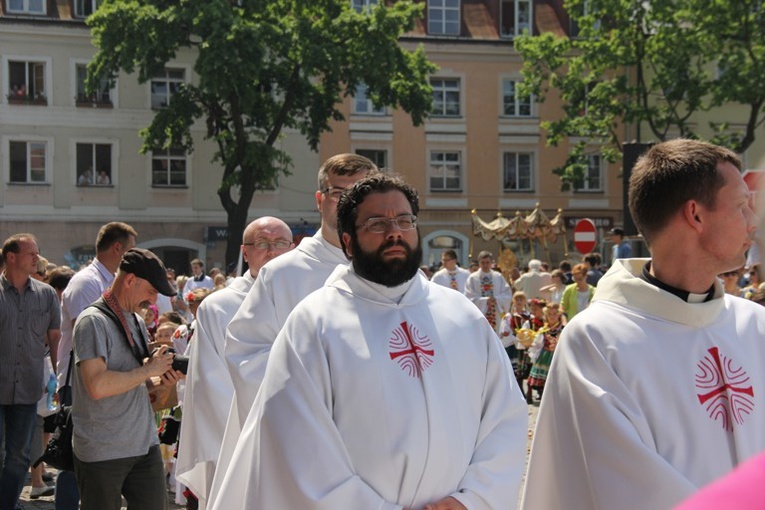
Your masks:
{"label": "bald man with glasses in white robe, last of the row", "polygon": [[199,510],[207,508],[215,466],[234,397],[223,356],[226,327],[249,292],[260,268],[292,248],[292,231],[278,218],[264,216],[244,229],[241,252],[248,270],[199,305],[183,400],[176,478],[194,493]]}

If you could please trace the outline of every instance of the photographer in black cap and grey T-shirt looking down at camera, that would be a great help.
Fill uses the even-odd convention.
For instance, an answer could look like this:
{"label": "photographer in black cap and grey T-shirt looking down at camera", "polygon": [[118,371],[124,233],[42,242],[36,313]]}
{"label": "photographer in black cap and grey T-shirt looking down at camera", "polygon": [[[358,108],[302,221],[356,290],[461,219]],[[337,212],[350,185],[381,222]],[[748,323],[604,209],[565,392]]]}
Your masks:
{"label": "photographer in black cap and grey T-shirt looking down at camera", "polygon": [[164,468],[149,388],[172,387],[182,374],[173,355],[148,351],[146,325],[136,313],[173,296],[162,261],[132,248],[112,286],[74,326],[74,469],[82,510],[167,508]]}

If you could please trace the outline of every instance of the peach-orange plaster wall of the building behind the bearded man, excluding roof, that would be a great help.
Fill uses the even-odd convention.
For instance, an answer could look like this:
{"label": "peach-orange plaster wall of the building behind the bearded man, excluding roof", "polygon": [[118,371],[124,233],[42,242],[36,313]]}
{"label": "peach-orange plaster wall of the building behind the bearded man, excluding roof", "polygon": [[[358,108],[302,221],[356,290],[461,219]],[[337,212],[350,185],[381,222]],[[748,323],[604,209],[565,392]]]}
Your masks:
{"label": "peach-orange plaster wall of the building behind the bearded man, excluding roof", "polygon": [[[404,43],[414,48],[420,41]],[[460,113],[453,117],[430,117],[414,127],[402,111],[386,115],[354,113],[353,98],[344,103],[344,122],[332,124],[332,132],[322,138],[320,158],[338,152],[385,151],[389,168],[402,175],[420,193],[420,231],[425,263],[437,264],[443,249],[457,250],[466,265],[480,250],[499,252],[495,240],[484,241],[473,235],[471,210],[485,221],[497,213],[511,218],[519,211],[528,215],[536,206],[552,219],[558,209],[575,221],[589,217],[600,227],[599,239],[612,226],[622,224],[622,183],[620,165],[606,165],[602,189],[593,192],[561,192],[560,180],[552,169],[564,163],[569,144],[548,147],[540,122],[560,115],[560,102],[551,97],[532,104],[531,116],[503,114],[503,80],[520,79],[521,61],[512,41],[430,42],[424,47],[439,70],[434,78],[458,79]],[[575,143],[577,140],[571,140]],[[598,153],[596,146],[592,147]],[[461,156],[462,185],[456,191],[437,191],[429,183],[433,151],[458,152]],[[530,153],[533,160],[533,189],[506,191],[503,183],[503,155],[506,152]],[[573,223],[571,223],[573,225]],[[509,243],[519,263],[527,262],[531,246]],[[549,255],[548,255],[549,250]],[[568,258],[581,259],[573,247],[573,228],[565,240],[534,246],[534,255],[557,264]]]}

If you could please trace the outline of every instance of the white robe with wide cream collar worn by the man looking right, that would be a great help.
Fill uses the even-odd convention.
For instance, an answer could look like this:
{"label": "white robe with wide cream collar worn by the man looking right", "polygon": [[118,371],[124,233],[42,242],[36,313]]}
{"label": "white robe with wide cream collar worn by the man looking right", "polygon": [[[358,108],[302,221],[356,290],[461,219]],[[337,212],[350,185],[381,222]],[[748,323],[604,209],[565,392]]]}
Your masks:
{"label": "white robe with wide cream collar worn by the man looking right", "polygon": [[525,510],[667,509],[765,450],[765,308],[689,304],[619,259],[564,328]]}

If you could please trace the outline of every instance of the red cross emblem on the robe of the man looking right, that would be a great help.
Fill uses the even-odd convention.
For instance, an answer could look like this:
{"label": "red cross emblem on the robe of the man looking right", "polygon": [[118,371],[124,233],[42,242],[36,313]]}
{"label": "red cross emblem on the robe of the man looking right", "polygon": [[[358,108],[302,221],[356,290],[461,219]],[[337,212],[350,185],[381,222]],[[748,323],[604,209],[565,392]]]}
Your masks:
{"label": "red cross emblem on the robe of the man looking right", "polygon": [[696,365],[696,389],[699,403],[709,417],[719,420],[722,427],[732,431],[744,424],[746,417],[754,410],[754,390],[749,383],[749,374],[729,357],[720,354],[717,347]]}

